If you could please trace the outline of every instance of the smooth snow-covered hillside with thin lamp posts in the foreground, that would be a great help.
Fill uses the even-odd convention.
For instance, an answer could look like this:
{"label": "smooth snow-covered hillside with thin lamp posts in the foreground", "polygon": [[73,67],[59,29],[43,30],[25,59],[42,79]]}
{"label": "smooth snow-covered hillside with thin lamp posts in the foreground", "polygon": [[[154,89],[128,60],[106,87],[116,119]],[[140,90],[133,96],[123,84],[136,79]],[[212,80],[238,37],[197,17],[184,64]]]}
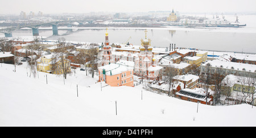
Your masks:
{"label": "smooth snow-covered hillside with thin lamp posts in the foreground", "polygon": [[62,76],[47,74],[48,84],[43,72],[29,77],[24,62],[13,70],[0,65],[0,126],[256,126],[251,105],[199,103],[196,113],[197,103],[142,92],[142,85],[101,91],[97,76],[85,71],[77,70],[64,85]]}

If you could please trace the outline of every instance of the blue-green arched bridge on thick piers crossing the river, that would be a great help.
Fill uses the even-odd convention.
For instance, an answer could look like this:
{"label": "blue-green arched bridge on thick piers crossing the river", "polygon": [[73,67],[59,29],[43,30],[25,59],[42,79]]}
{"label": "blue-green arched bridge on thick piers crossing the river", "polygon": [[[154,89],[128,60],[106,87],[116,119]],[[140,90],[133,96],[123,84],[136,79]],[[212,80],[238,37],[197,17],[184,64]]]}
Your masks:
{"label": "blue-green arched bridge on thick piers crossing the river", "polygon": [[[52,22],[49,22],[49,23],[25,25],[25,26],[22,26],[22,27],[18,26],[18,27],[4,28],[4,29],[0,29],[0,33],[5,33],[5,37],[13,37],[13,33],[12,33],[13,31],[16,31],[16,30],[21,29],[21,28],[31,28],[33,36],[39,36],[38,28],[42,25],[51,24],[53,35],[59,35],[58,27],[57,27],[57,25],[59,23],[64,23],[64,21],[52,21]],[[70,27],[70,25],[68,25],[68,27]]]}

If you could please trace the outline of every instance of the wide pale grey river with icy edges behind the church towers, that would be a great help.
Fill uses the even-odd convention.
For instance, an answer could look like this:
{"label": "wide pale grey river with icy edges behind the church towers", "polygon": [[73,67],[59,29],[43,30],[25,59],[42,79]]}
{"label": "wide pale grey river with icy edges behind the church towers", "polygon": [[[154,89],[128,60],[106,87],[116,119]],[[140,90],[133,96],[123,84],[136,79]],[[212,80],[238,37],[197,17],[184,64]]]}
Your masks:
{"label": "wide pale grey river with icy edges behind the church towers", "polygon": [[[226,16],[234,21],[234,15]],[[256,15],[239,15],[239,21],[246,23],[240,28],[185,28],[165,27],[147,28],[147,38],[151,39],[151,46],[166,48],[170,43],[176,47],[196,48],[202,50],[236,51],[256,53]],[[146,28],[108,28],[110,44],[123,44],[129,40],[130,44],[141,45],[145,38]],[[72,33],[59,27],[59,36],[52,36],[51,28],[39,28],[39,35],[47,40],[58,40],[64,37],[67,41],[97,42],[105,41],[106,28],[73,28]],[[13,32],[13,37],[32,36],[31,29]],[[129,39],[130,38],[130,39]]]}

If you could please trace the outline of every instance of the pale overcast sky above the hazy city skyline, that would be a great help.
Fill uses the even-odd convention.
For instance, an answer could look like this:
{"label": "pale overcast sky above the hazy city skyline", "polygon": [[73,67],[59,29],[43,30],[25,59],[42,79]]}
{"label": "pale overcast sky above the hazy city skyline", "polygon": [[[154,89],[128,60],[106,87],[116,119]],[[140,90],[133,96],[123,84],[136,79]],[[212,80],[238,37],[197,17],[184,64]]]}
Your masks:
{"label": "pale overcast sky above the hazy city skyline", "polygon": [[1,0],[0,14],[108,12],[255,12],[256,0]]}

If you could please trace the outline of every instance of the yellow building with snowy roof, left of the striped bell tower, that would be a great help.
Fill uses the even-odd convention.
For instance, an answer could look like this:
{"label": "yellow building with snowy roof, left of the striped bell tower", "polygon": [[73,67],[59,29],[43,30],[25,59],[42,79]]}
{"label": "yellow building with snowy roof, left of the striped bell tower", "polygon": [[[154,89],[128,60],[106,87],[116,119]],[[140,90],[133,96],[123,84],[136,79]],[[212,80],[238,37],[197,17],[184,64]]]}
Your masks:
{"label": "yellow building with snowy roof, left of the striped bell tower", "polygon": [[[53,58],[52,54],[44,55],[37,60],[38,71],[49,74],[63,74],[63,67],[61,66],[60,58]],[[64,63],[67,63],[67,68],[70,71],[70,62],[64,58]]]}

